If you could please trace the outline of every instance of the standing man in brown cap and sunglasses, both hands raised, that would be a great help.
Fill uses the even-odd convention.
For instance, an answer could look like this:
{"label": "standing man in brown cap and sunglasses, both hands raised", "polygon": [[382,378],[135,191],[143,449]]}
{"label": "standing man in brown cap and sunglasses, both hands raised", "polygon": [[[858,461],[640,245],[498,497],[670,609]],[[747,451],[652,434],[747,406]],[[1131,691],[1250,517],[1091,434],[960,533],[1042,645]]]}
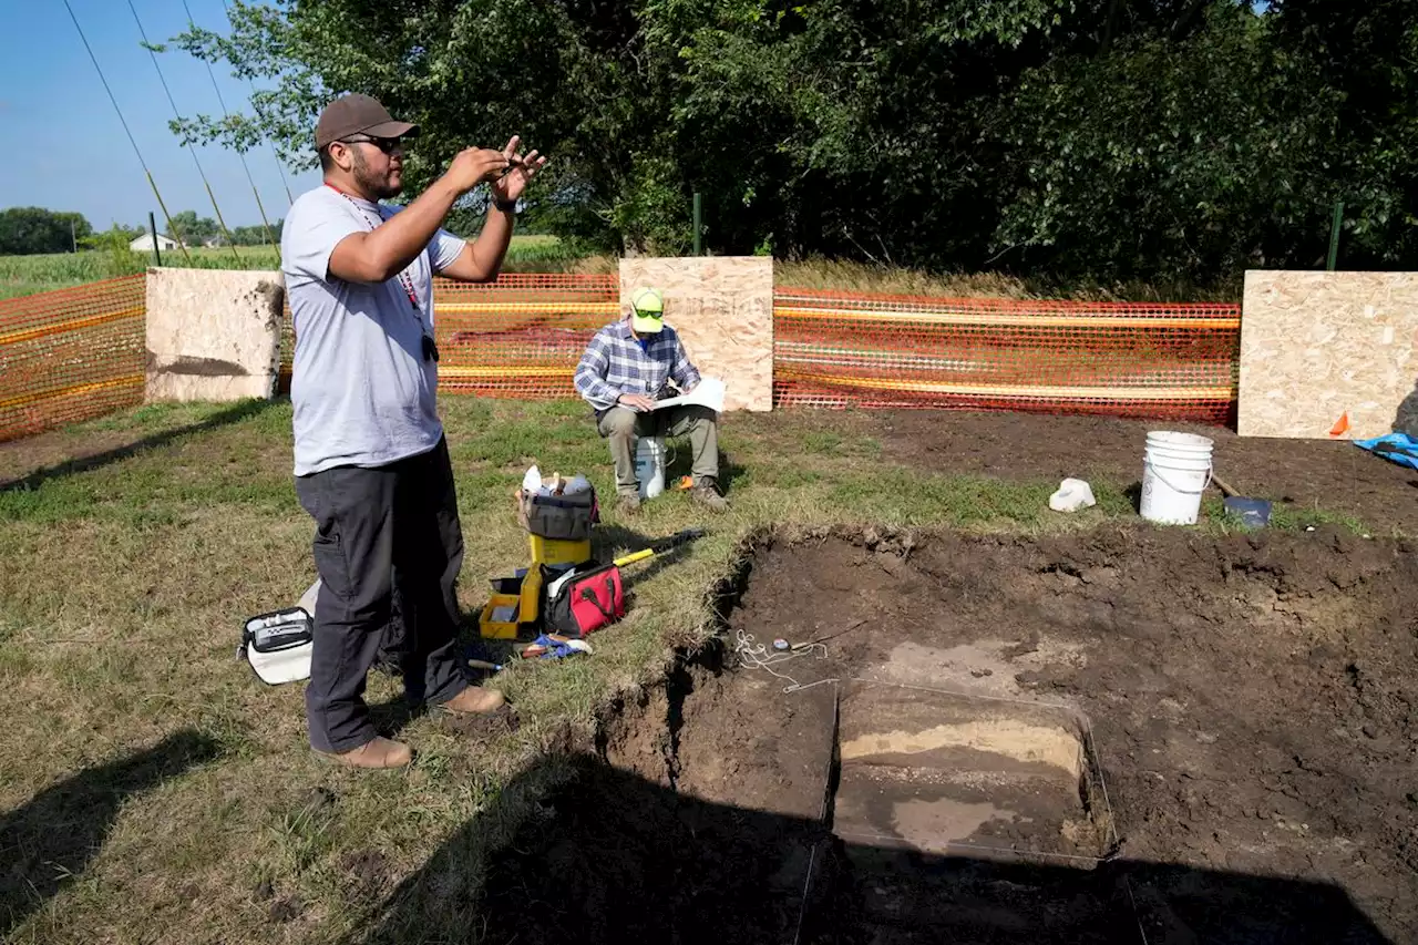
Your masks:
{"label": "standing man in brown cap and sunglasses, both hands raised", "polygon": [[[406,745],[380,738],[364,682],[398,585],[408,646],[406,695],[452,712],[491,712],[502,694],[469,685],[457,650],[462,529],[438,420],[432,274],[496,278],[518,197],[546,165],[469,148],[407,207],[404,139],[417,133],[367,95],[330,102],[315,126],[325,183],[301,194],[281,234],[295,322],[291,402],[295,491],[315,519],[311,746],[357,768],[401,768]],[[492,207],[472,244],[442,230],[454,201],[479,183]]]}

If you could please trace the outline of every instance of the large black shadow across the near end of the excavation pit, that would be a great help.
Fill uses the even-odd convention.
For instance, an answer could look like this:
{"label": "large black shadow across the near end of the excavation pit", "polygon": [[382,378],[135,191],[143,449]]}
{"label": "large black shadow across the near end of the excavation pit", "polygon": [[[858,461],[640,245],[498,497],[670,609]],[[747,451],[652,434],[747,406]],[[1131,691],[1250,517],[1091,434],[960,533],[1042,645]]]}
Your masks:
{"label": "large black shadow across the near end of the excavation pit", "polygon": [[[499,833],[509,822],[522,827]],[[475,895],[471,864],[492,847],[502,851]],[[710,803],[590,753],[532,765],[376,917],[353,942],[1390,945],[1327,883],[845,841],[830,813],[813,820]]]}

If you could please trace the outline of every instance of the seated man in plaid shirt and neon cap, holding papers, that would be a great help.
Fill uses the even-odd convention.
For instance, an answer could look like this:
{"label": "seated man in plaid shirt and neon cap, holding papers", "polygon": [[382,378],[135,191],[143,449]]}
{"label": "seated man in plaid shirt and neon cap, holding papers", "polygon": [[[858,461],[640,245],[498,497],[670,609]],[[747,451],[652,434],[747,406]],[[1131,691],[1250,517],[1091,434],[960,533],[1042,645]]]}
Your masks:
{"label": "seated man in plaid shirt and neon cap, holding papers", "polygon": [[655,410],[655,400],[674,396],[669,380],[689,393],[699,383],[699,372],[679,335],[665,325],[661,292],[637,289],[630,315],[598,331],[576,368],[576,390],[596,410],[596,429],[610,440],[620,509],[640,509],[635,437],[688,434],[693,450],[692,495],[722,512],[729,504],[719,494],[718,414],[698,406]]}

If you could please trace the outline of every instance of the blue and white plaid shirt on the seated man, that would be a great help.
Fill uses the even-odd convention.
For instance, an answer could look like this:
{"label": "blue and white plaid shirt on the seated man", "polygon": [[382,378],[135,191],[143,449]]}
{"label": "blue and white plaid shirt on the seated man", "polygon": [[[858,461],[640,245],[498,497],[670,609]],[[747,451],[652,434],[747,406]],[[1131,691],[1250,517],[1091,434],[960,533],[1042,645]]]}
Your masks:
{"label": "blue and white plaid shirt on the seated man", "polygon": [[658,397],[666,380],[674,380],[681,390],[699,383],[699,372],[669,325],[641,341],[631,335],[630,321],[607,325],[596,332],[576,368],[576,392],[597,413],[614,407],[625,393]]}

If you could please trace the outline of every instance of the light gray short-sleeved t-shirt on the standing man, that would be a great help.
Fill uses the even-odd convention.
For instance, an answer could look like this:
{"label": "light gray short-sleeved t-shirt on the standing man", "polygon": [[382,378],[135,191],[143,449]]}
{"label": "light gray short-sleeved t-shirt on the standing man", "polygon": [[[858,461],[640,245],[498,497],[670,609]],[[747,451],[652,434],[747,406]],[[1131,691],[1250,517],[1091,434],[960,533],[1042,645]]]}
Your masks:
{"label": "light gray short-sleeved t-shirt on the standing man", "polygon": [[295,474],[335,465],[384,465],[438,446],[438,368],[424,358],[432,335],[432,274],[462,253],[464,240],[438,230],[403,275],[379,284],[329,272],[336,244],[369,233],[401,207],[346,197],[319,186],[291,206],[281,231],[281,270],[295,322],[291,402]]}

